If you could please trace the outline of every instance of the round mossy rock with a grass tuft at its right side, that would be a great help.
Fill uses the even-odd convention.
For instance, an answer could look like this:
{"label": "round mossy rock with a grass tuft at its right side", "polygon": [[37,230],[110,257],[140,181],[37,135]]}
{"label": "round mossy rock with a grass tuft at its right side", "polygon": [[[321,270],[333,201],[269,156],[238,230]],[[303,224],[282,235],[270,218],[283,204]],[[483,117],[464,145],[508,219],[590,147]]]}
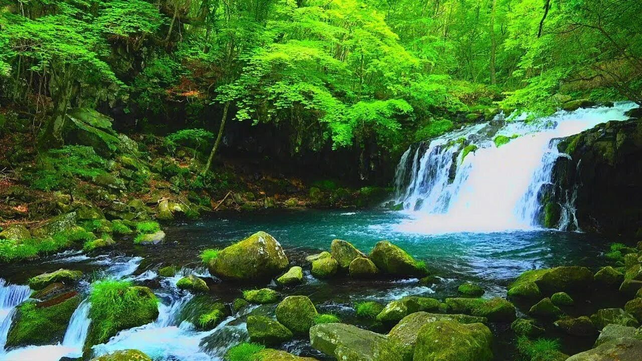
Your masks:
{"label": "round mossy rock with a grass tuft at its right side", "polygon": [[305,335],[318,316],[317,308],[306,296],[288,296],[276,309],[277,321],[281,322],[295,335]]}

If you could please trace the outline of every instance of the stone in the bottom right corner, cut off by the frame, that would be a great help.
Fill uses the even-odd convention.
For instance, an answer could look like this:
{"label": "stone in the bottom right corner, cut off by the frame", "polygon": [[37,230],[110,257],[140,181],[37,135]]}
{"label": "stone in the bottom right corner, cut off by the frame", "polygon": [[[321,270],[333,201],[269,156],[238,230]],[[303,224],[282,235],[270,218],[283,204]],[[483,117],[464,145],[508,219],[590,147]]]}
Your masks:
{"label": "stone in the bottom right corner, cut off by the frame", "polygon": [[639,361],[642,340],[617,339],[569,357],[566,361]]}

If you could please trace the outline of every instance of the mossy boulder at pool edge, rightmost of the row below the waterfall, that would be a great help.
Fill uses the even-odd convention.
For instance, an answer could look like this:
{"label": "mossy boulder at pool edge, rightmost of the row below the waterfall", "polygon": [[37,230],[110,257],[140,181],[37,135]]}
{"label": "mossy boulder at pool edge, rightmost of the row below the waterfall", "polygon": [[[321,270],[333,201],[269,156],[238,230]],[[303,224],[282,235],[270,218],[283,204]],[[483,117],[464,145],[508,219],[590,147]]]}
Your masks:
{"label": "mossy boulder at pool edge, rightmost of the row below the waterfall", "polygon": [[424,276],[426,270],[419,267],[410,254],[388,241],[377,242],[370,252],[370,260],[381,272],[394,276]]}

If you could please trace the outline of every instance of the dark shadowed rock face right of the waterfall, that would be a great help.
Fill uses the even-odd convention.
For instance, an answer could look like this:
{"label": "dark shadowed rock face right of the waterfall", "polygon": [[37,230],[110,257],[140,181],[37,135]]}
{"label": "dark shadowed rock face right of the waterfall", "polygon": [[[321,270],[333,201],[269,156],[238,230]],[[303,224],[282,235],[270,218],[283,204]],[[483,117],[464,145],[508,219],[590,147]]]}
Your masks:
{"label": "dark shadowed rock face right of the waterfall", "polygon": [[[641,119],[600,124],[563,138],[558,148],[570,158],[560,157],[553,168],[551,204],[564,205],[575,197],[583,231],[634,234],[642,229]],[[549,220],[555,224],[560,217],[546,216],[558,217]]]}

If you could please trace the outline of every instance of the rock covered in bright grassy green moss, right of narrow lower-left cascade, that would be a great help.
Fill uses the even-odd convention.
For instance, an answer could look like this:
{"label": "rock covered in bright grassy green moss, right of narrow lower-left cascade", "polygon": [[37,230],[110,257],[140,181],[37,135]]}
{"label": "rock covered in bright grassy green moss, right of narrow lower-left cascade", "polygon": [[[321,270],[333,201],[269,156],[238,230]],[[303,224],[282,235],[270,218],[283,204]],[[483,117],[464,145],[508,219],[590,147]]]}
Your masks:
{"label": "rock covered in bright grassy green moss, right of narrow lower-left cascade", "polygon": [[89,301],[89,346],[107,342],[118,331],[148,324],[159,315],[152,290],[132,286],[129,281],[98,281],[92,285]]}

